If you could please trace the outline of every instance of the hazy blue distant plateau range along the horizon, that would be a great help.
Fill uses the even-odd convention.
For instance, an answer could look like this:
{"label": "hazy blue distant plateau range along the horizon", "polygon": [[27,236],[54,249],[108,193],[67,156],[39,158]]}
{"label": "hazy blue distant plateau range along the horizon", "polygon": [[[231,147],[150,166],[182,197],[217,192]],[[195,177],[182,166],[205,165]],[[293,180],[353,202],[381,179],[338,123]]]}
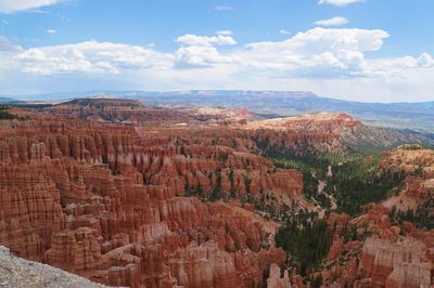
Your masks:
{"label": "hazy blue distant plateau range along the horizon", "polygon": [[[189,90],[173,92],[85,91],[28,95],[26,100],[71,100],[76,97],[120,97],[139,100],[157,107],[245,107],[257,114],[297,115],[343,112],[380,127],[434,132],[434,101],[423,103],[361,103],[321,97],[304,91]],[[1,102],[13,102],[0,96]],[[39,102],[40,103],[40,102]]]}

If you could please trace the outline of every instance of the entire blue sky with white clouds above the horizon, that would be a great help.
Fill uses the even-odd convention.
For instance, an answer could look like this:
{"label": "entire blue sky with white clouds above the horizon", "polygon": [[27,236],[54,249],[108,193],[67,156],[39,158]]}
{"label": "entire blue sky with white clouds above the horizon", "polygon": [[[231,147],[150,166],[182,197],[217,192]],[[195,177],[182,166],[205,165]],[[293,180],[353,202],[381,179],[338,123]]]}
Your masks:
{"label": "entire blue sky with white clouds above the horizon", "polygon": [[434,101],[433,0],[0,0],[0,94]]}

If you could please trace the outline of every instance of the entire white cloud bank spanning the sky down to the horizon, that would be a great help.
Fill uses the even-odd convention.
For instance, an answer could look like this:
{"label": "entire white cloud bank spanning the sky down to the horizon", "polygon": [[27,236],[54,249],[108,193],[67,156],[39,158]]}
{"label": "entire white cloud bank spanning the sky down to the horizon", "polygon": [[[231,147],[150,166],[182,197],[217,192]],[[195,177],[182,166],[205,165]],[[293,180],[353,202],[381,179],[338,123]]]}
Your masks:
{"label": "entire white cloud bank spanning the sky down to the horizon", "polygon": [[[432,54],[366,57],[388,37],[380,29],[317,27],[234,47],[226,35],[184,35],[173,53],[98,41],[24,49],[0,37],[0,93],[72,90],[74,81],[82,89],[312,90],[359,101],[432,100]],[[11,84],[17,79],[20,87]]]}

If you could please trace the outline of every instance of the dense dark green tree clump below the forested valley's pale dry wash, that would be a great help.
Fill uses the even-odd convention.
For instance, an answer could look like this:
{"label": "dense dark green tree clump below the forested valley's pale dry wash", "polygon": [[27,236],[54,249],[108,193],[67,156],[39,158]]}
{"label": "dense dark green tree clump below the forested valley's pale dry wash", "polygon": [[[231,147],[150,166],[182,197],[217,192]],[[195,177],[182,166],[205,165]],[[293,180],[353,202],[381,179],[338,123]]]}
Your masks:
{"label": "dense dark green tree clump below the forested valley's pale dry wash", "polygon": [[303,276],[320,267],[331,245],[327,222],[319,220],[315,213],[303,211],[279,228],[275,240],[277,247],[282,247],[291,254],[288,266],[296,267]]}

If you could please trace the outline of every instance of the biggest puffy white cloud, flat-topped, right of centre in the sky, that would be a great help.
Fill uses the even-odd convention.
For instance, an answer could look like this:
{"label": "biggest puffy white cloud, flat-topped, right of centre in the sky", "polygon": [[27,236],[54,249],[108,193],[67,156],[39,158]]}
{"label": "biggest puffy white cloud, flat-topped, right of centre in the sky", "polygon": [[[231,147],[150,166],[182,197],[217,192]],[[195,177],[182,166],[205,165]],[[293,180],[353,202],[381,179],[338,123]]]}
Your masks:
{"label": "biggest puffy white cloud, flat-topped, right of centre in the sky", "polygon": [[256,42],[241,52],[244,65],[291,76],[335,77],[359,74],[363,53],[381,49],[384,30],[314,28],[281,42]]}

